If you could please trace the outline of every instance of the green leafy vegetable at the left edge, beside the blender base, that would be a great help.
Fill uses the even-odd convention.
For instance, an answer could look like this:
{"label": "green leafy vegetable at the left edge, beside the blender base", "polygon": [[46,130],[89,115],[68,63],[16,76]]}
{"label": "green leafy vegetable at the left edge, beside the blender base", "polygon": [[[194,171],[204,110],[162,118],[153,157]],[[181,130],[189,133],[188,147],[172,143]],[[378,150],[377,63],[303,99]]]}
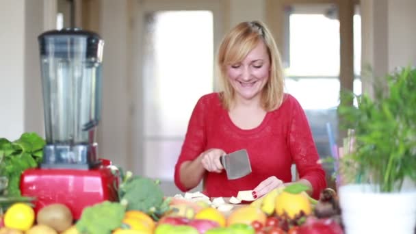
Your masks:
{"label": "green leafy vegetable at the left edge, beside the blender base", "polygon": [[37,133],[23,133],[14,142],[0,138],[0,176],[8,178],[8,196],[21,196],[21,174],[24,170],[36,168],[40,164],[45,144]]}

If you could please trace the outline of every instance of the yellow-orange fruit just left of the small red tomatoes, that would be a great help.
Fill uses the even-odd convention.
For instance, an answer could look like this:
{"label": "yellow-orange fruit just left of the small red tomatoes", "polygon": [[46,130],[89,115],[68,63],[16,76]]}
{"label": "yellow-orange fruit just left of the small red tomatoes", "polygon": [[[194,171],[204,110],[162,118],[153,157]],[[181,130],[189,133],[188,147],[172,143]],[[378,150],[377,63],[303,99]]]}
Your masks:
{"label": "yellow-orange fruit just left of the small red tomatoes", "polygon": [[227,219],[227,225],[231,224],[248,224],[250,225],[253,221],[257,220],[265,225],[267,216],[258,207],[241,207],[233,211]]}

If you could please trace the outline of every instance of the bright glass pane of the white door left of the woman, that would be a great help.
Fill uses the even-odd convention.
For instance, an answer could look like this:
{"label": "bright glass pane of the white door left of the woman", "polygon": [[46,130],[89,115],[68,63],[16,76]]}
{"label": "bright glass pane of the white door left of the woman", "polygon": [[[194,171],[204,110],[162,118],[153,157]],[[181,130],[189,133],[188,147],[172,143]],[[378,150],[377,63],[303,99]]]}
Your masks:
{"label": "bright glass pane of the white door left of the woman", "polygon": [[192,109],[213,92],[213,14],[161,11],[145,18],[144,175],[172,181]]}

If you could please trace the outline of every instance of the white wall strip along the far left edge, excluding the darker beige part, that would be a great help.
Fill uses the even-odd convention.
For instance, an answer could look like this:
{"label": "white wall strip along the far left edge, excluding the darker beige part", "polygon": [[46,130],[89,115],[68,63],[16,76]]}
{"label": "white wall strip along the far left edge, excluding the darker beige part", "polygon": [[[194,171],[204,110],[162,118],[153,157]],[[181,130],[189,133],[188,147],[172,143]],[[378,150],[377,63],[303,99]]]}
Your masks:
{"label": "white wall strip along the far left edge, excluding the darker beige part", "polygon": [[24,131],[25,1],[0,3],[0,138]]}

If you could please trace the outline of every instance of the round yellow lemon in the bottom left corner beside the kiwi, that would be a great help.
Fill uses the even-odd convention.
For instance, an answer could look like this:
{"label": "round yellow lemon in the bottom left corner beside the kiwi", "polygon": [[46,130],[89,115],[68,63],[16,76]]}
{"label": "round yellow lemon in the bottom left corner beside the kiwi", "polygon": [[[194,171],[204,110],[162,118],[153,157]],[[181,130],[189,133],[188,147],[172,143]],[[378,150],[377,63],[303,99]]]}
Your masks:
{"label": "round yellow lemon in the bottom left corner beside the kiwi", "polygon": [[25,203],[14,203],[4,214],[4,226],[27,231],[34,225],[35,211]]}

